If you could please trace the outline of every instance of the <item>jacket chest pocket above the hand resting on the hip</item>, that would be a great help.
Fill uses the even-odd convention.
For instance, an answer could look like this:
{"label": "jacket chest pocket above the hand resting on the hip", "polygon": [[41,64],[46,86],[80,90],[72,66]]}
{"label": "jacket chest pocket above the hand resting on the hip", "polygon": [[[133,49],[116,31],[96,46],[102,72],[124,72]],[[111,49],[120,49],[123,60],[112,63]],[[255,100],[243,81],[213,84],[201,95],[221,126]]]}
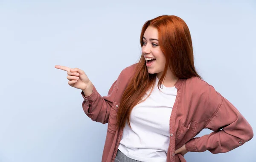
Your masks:
{"label": "jacket chest pocket above the hand resting on the hip", "polygon": [[196,135],[197,126],[198,122],[194,120],[192,120],[187,127],[180,126],[180,129],[177,132],[175,143],[180,143],[181,145],[184,145],[186,141],[194,138]]}

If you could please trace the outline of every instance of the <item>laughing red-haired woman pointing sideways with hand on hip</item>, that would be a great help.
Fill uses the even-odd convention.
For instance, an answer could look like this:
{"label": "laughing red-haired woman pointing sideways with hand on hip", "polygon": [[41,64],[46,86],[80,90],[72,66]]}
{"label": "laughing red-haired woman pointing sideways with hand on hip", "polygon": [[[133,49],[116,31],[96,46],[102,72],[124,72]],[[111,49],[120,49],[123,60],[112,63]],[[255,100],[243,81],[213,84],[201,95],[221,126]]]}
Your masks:
{"label": "laughing red-haired woman pointing sideways with hand on hip", "polygon": [[[122,70],[107,96],[83,70],[55,66],[82,90],[85,114],[108,123],[102,162],[186,162],[188,151],[224,153],[252,139],[247,120],[196,72],[182,19],[145,22],[140,44],[140,61]],[[194,138],[204,128],[213,132]]]}

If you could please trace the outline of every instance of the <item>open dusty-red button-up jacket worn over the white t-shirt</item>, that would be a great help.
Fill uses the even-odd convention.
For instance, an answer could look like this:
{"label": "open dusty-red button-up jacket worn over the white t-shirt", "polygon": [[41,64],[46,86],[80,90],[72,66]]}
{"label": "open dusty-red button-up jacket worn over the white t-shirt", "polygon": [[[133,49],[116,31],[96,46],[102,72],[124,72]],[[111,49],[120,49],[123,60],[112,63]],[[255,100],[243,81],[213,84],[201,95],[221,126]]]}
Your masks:
{"label": "open dusty-red button-up jacket worn over the white t-shirt", "polygon": [[[123,130],[116,130],[116,115],[122,94],[136,71],[137,64],[126,67],[112,84],[107,96],[95,87],[82,103],[91,120],[108,123],[102,162],[114,162]],[[198,77],[179,79],[175,83],[177,96],[170,116],[170,142],[167,162],[186,162],[175,150],[186,145],[187,151],[210,151],[212,154],[231,151],[253,138],[253,130],[240,112],[214,87]],[[213,132],[195,136],[204,128]]]}

